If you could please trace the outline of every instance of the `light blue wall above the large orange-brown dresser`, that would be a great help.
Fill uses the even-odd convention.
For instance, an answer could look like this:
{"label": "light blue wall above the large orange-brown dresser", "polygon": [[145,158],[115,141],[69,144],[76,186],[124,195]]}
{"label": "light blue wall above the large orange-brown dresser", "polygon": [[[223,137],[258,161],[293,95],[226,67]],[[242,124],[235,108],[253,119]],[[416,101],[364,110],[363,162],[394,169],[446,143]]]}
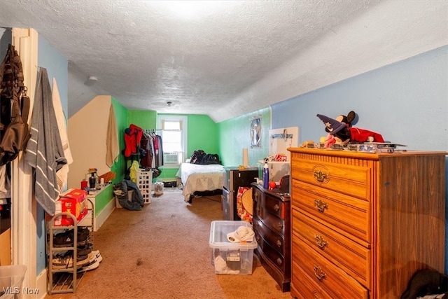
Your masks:
{"label": "light blue wall above the large orange-brown dresser", "polygon": [[[326,132],[317,113],[335,118],[351,110],[358,113],[356,127],[409,150],[448,151],[448,46],[274,104],[272,128],[298,126],[299,144],[318,141]],[[448,162],[445,176],[448,181]],[[448,198],[448,183],[445,193]]]}

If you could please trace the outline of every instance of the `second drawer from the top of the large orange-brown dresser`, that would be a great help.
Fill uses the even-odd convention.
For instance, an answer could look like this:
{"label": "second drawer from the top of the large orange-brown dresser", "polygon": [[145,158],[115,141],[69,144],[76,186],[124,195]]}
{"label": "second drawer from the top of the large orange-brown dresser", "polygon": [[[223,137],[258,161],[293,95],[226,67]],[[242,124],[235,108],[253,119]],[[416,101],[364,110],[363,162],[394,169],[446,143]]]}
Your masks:
{"label": "second drawer from the top of the large orange-brown dresser", "polygon": [[370,202],[295,179],[292,180],[291,189],[293,209],[302,209],[316,219],[326,221],[330,226],[334,225],[335,229],[339,228],[342,235],[351,239],[354,236],[358,238],[356,241],[370,247]]}

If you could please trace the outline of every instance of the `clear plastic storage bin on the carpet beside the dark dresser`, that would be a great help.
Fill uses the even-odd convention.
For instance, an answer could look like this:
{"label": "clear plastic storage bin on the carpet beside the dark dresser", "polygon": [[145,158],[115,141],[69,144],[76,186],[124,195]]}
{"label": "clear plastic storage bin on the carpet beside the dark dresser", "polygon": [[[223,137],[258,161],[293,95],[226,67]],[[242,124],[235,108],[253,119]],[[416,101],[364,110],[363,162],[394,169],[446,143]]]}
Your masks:
{"label": "clear plastic storage bin on the carpet beside the dark dresser", "polygon": [[229,232],[235,232],[240,226],[252,228],[246,221],[211,221],[210,247],[216,274],[252,274],[253,242],[232,243],[227,239]]}

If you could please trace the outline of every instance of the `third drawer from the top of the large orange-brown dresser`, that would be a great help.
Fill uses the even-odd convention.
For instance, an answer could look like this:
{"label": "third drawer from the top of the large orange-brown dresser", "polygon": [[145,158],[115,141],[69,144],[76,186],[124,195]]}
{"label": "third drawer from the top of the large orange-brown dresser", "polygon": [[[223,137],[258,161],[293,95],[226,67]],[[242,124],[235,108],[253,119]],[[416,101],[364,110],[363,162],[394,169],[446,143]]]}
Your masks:
{"label": "third drawer from the top of the large orange-brown dresser", "polygon": [[293,235],[370,287],[371,251],[293,209]]}

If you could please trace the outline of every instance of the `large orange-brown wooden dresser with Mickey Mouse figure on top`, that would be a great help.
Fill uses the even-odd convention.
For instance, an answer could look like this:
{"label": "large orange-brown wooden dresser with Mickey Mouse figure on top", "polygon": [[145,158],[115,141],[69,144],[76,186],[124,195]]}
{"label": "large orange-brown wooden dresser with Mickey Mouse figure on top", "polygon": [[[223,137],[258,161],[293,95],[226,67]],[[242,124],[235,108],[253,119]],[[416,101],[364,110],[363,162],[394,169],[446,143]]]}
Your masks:
{"label": "large orange-brown wooden dresser with Mickey Mouse figure on top", "polygon": [[291,295],[400,298],[444,271],[444,152],[291,152]]}

